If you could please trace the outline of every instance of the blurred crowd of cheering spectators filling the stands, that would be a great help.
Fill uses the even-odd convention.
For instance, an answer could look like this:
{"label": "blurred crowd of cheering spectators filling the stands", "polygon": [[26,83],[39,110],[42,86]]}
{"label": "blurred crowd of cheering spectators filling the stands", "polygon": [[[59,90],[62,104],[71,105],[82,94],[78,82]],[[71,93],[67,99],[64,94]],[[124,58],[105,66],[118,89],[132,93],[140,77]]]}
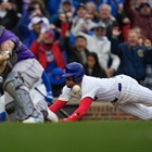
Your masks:
{"label": "blurred crowd of cheering spectators filling the stands", "polygon": [[58,97],[63,67],[125,74],[152,89],[152,2],[149,0],[0,0],[0,24],[31,50]]}

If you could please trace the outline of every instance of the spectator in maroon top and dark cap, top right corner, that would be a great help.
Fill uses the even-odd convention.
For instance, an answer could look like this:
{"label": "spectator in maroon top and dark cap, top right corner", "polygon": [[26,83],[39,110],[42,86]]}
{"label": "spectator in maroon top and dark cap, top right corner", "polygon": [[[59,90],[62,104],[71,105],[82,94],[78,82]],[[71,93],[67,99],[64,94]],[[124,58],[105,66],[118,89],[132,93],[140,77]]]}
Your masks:
{"label": "spectator in maroon top and dark cap, top right corner", "polygon": [[131,21],[131,26],[140,27],[142,35],[152,41],[152,13],[150,4],[148,2],[141,2],[138,11],[136,11],[131,8],[130,2],[132,0],[125,0],[124,9]]}

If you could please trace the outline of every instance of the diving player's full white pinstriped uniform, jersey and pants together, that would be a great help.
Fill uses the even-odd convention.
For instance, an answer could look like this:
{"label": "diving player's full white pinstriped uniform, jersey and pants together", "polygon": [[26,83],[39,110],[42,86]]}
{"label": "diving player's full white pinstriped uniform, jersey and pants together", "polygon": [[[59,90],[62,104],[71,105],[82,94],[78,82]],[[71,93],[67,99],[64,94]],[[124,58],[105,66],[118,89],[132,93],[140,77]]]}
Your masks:
{"label": "diving player's full white pinstriped uniform, jersey and pants together", "polygon": [[112,78],[96,78],[85,75],[80,87],[80,91],[74,94],[72,89],[65,86],[59,100],[69,101],[72,98],[79,98],[80,100],[91,98],[99,102],[112,102],[124,112],[142,119],[152,119],[152,107],[143,105],[152,104],[152,91],[139,85],[129,76],[118,75]]}

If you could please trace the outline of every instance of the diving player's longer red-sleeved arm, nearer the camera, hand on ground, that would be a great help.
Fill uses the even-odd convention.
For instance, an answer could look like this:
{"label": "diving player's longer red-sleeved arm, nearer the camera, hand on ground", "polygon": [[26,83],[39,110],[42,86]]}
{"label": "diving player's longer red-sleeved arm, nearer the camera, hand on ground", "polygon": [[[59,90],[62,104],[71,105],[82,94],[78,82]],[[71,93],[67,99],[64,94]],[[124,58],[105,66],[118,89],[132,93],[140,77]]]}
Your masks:
{"label": "diving player's longer red-sleeved arm, nearer the camera, hand on ground", "polygon": [[63,118],[63,122],[74,122],[84,117],[92,103],[91,98],[85,98],[80,101],[78,109],[68,117]]}

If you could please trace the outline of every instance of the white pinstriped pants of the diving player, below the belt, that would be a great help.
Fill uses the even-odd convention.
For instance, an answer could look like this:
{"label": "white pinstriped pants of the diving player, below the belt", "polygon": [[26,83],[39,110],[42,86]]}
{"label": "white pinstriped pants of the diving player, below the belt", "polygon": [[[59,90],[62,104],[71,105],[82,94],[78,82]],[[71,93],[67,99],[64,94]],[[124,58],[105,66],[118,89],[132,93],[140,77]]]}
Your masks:
{"label": "white pinstriped pants of the diving player, below the belt", "polygon": [[128,76],[123,76],[118,80],[123,89],[119,100],[113,105],[141,119],[152,119],[152,90]]}

